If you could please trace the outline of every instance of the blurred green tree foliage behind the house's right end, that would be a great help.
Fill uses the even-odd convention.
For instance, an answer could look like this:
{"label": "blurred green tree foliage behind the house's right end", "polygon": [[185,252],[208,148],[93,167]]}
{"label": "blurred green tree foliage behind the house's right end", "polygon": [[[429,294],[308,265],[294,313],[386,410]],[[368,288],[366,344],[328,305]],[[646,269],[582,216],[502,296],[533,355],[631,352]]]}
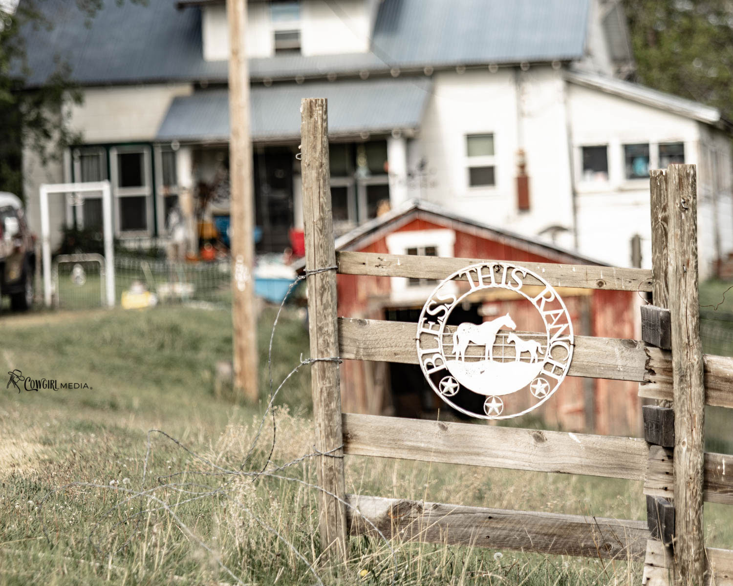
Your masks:
{"label": "blurred green tree foliage behind the house's right end", "polygon": [[733,118],[733,3],[624,0],[642,84]]}

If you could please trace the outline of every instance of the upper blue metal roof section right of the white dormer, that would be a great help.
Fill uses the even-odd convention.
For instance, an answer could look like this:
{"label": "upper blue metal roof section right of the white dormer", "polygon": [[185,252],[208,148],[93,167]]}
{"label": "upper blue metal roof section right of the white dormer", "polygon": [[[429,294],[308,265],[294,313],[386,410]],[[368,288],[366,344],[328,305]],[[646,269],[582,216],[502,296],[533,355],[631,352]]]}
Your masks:
{"label": "upper blue metal roof section right of the white dormer", "polygon": [[583,56],[588,0],[385,0],[372,50],[402,67]]}

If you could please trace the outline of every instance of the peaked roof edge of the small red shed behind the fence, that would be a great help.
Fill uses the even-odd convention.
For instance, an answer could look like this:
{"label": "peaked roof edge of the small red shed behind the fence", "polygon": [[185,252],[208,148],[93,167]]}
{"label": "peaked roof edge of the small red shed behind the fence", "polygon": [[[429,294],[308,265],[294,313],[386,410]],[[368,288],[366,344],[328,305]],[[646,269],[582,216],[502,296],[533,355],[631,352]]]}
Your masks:
{"label": "peaked roof edge of the small red shed behind the fence", "polygon": [[[419,199],[405,201],[404,204],[391,209],[386,214],[377,216],[377,218],[364,222],[361,226],[357,226],[355,229],[348,231],[343,236],[336,238],[334,247],[336,251],[361,250],[361,248],[368,246],[372,242],[379,240],[386,234],[397,230],[400,226],[404,226],[406,223],[415,219],[449,225],[453,229],[468,232],[475,237],[500,242],[512,248],[518,248],[539,256],[544,256],[555,262],[608,266],[608,263],[591,259],[575,251],[568,251],[565,248],[560,248],[548,242],[540,242],[537,239],[522,236],[511,230],[490,226],[489,224],[476,221],[473,218],[458,215],[437,204]],[[303,270],[305,268],[305,259],[298,260],[292,267],[298,271]]]}

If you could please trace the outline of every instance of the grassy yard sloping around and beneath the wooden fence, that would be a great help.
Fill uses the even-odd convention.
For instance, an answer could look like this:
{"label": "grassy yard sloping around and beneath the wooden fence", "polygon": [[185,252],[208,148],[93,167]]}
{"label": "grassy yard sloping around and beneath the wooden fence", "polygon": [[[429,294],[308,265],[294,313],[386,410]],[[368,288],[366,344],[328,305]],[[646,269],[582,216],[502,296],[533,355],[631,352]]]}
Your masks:
{"label": "grassy yard sloping around and beneath the wooden fence", "polygon": [[[258,333],[262,399],[268,394],[273,318],[274,311],[265,310]],[[237,473],[265,466],[273,431],[268,420],[245,459],[262,404],[246,407],[213,394],[216,361],[231,355],[230,320],[228,311],[181,306],[0,319],[2,372],[20,369],[33,379],[89,387],[4,389],[0,583],[639,582],[639,564],[623,560],[399,543],[393,555],[383,542],[367,538],[350,541],[350,562],[336,574],[320,559],[316,493],[299,482],[315,482],[309,461],[273,472],[312,452],[307,367],[289,379],[276,401],[277,439],[268,467],[295,480]],[[308,355],[303,315],[289,310],[273,345],[276,386],[301,353]],[[730,419],[715,418],[709,418],[708,430],[721,450],[730,445]],[[152,434],[146,459],[150,429],[166,431],[191,451]],[[80,482],[86,484],[67,486]],[[141,491],[149,492],[132,496]],[[347,492],[645,518],[641,483],[585,476],[355,457],[347,460]],[[709,546],[733,546],[733,507],[706,505],[705,522]]]}

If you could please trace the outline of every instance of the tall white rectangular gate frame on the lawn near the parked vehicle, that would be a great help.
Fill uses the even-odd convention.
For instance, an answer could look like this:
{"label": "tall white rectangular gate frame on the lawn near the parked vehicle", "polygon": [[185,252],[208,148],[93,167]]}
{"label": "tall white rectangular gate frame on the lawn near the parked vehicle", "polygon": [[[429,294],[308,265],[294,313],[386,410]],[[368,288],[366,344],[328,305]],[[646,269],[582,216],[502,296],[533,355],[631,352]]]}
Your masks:
{"label": "tall white rectangular gate frame on the lawn near the parked vehicle", "polygon": [[[107,305],[114,307],[114,246],[112,245],[112,195],[108,181],[88,183],[45,183],[40,187],[41,242],[43,246],[43,301],[51,307],[51,227],[48,218],[48,196],[52,193],[102,193],[104,259]],[[83,195],[82,195],[83,197]]]}

